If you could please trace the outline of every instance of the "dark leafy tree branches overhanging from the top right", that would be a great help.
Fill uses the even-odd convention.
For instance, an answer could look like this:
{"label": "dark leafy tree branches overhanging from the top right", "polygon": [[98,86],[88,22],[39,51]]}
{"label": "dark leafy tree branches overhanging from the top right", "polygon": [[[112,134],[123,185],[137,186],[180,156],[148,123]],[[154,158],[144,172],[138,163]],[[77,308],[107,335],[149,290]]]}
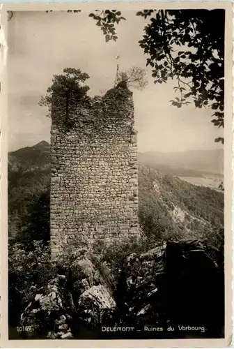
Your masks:
{"label": "dark leafy tree branches overhanging from the top right", "polygon": [[[211,107],[212,123],[223,128],[225,10],[143,10],[137,16],[149,19],[139,45],[148,55],[146,66],[151,66],[155,84],[176,79],[178,96],[171,104]],[[114,10],[90,17],[97,20],[106,41],[118,38],[114,23],[125,20]],[[215,142],[224,143],[224,138]]]}

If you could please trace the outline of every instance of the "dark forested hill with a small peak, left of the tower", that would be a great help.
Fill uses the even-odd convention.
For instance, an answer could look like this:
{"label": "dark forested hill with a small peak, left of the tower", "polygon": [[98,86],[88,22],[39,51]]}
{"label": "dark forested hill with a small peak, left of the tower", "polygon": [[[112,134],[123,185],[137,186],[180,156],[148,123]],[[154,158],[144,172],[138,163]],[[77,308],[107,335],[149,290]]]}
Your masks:
{"label": "dark forested hill with a small peak, left of the tower", "polygon": [[[49,230],[49,144],[42,141],[8,154],[8,235],[19,238],[31,231],[40,239],[40,230]],[[45,221],[46,216],[46,221]],[[42,220],[42,226],[40,226]],[[47,223],[47,224],[46,224]],[[47,225],[47,226],[45,226]]]}

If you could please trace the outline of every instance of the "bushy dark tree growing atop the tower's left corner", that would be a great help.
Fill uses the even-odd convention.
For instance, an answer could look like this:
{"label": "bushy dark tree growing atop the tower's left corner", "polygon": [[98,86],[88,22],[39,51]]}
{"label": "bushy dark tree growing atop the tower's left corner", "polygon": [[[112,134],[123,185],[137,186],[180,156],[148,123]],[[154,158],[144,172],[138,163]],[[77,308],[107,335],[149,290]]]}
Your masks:
{"label": "bushy dark tree growing atop the tower's left corner", "polygon": [[47,94],[40,99],[39,104],[49,108],[49,117],[59,117],[65,124],[69,124],[69,115],[79,103],[88,101],[89,87],[84,82],[88,74],[80,69],[65,68],[63,74],[54,75],[52,86],[47,89]]}

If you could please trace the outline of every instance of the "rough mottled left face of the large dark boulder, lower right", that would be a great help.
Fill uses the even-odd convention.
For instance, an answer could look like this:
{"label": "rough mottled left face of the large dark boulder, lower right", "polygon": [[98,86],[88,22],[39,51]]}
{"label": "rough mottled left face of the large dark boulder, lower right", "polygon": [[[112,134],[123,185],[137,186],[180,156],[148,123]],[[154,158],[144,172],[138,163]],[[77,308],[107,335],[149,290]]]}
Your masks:
{"label": "rough mottled left face of the large dark boulder, lower right", "polygon": [[[128,325],[133,322],[153,325],[162,315],[161,305],[155,309],[155,304],[162,294],[159,285],[165,276],[165,249],[166,244],[162,244],[146,253],[132,253],[126,258],[115,299],[120,313],[125,313],[125,318],[129,319]],[[164,304],[163,299],[159,304]]]}

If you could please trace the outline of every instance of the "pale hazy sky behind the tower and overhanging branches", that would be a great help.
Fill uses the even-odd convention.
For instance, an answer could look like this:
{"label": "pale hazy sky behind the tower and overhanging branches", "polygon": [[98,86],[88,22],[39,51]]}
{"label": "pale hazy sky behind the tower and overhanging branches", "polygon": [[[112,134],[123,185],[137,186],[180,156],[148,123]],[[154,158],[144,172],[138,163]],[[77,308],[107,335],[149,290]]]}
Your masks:
{"label": "pale hazy sky behind the tower and overhanging branches", "polygon": [[[63,68],[80,68],[90,75],[91,95],[113,87],[116,54],[120,70],[146,67],[138,41],[144,20],[135,12],[123,13],[127,21],[117,27],[118,40],[105,43],[100,28],[88,13],[19,12],[8,22],[8,143],[9,150],[49,142],[50,119],[38,101]],[[184,151],[220,147],[221,135],[211,120],[211,110],[171,107],[176,82],[149,85],[134,92],[139,151]]]}

